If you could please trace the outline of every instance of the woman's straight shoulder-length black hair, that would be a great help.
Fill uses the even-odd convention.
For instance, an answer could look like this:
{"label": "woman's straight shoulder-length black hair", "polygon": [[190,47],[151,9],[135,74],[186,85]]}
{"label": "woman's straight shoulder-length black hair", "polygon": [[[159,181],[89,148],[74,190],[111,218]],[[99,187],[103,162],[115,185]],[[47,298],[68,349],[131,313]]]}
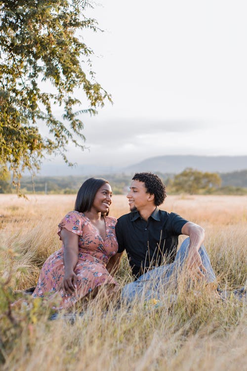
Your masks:
{"label": "woman's straight shoulder-length black hair", "polygon": [[[89,178],[87,179],[79,189],[77,193],[76,203],[75,203],[75,211],[79,211],[80,213],[84,213],[85,211],[90,211],[95,194],[97,193],[98,189],[103,185],[108,183],[103,178]],[[108,215],[104,214],[104,215]]]}

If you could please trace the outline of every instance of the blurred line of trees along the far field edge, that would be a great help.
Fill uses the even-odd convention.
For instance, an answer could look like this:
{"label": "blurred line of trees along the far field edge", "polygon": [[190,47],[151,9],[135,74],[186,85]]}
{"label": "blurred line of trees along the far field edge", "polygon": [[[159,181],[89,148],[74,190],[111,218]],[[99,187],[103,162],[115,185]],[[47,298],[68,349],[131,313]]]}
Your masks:
{"label": "blurred line of trees along the far field edge", "polygon": [[[157,173],[166,185],[167,193],[188,194],[247,194],[247,170],[217,174],[201,172],[187,168],[179,174]],[[114,194],[126,194],[131,175],[101,174],[92,175],[105,178],[112,186]],[[21,191],[23,193],[77,193],[82,183],[90,176],[67,177],[23,177]],[[10,174],[0,169],[0,193],[13,193]]]}

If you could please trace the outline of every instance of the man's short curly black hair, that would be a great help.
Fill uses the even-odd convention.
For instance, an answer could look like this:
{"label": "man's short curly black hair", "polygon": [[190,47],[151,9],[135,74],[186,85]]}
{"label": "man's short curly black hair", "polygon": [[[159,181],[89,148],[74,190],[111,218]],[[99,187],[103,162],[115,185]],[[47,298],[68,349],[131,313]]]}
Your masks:
{"label": "man's short curly black hair", "polygon": [[147,193],[154,194],[154,203],[156,206],[161,205],[166,197],[165,185],[161,178],[152,173],[135,173],[132,178],[133,181],[143,182],[147,188]]}

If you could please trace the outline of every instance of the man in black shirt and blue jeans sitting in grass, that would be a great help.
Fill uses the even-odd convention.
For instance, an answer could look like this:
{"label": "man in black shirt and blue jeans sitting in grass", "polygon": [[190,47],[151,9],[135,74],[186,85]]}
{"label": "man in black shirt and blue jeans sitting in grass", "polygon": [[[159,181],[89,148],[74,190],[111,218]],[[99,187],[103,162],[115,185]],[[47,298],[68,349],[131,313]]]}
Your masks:
{"label": "man in black shirt and blue jeans sitting in grass", "polygon": [[[175,213],[159,210],[165,197],[165,185],[157,175],[136,173],[132,178],[127,194],[130,213],[120,217],[116,225],[116,261],[120,262],[125,249],[135,278],[122,290],[126,301],[143,295],[144,286],[149,287],[145,299],[159,298],[160,285],[168,283],[174,268],[181,267],[185,258],[191,274],[207,282],[215,280],[206,250],[201,246],[204,229]],[[179,234],[189,238],[177,252]],[[170,264],[162,265],[164,260]]]}

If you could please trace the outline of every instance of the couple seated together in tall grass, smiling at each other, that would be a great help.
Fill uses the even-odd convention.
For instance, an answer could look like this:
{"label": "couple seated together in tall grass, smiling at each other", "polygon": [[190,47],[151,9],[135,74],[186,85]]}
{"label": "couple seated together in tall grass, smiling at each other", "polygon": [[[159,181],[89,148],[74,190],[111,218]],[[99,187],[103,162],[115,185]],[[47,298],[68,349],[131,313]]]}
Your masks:
{"label": "couple seated together in tall grass, smiling at each other", "polygon": [[[122,288],[122,298],[159,298],[175,268],[185,261],[196,276],[215,280],[206,250],[204,230],[179,215],[158,209],[165,185],[151,173],[137,173],[127,194],[130,213],[117,221],[108,216],[112,189],[104,179],[87,179],[77,194],[75,209],[59,224],[62,248],[44,263],[33,297],[58,293],[59,309],[69,309],[104,285],[111,297],[119,291],[114,279],[124,249],[134,281]],[[177,252],[178,236],[189,236]],[[162,265],[166,259],[167,265]],[[150,283],[150,289],[147,288]],[[152,285],[151,285],[152,283]],[[164,287],[163,287],[164,288]],[[46,295],[45,295],[46,296]]]}

